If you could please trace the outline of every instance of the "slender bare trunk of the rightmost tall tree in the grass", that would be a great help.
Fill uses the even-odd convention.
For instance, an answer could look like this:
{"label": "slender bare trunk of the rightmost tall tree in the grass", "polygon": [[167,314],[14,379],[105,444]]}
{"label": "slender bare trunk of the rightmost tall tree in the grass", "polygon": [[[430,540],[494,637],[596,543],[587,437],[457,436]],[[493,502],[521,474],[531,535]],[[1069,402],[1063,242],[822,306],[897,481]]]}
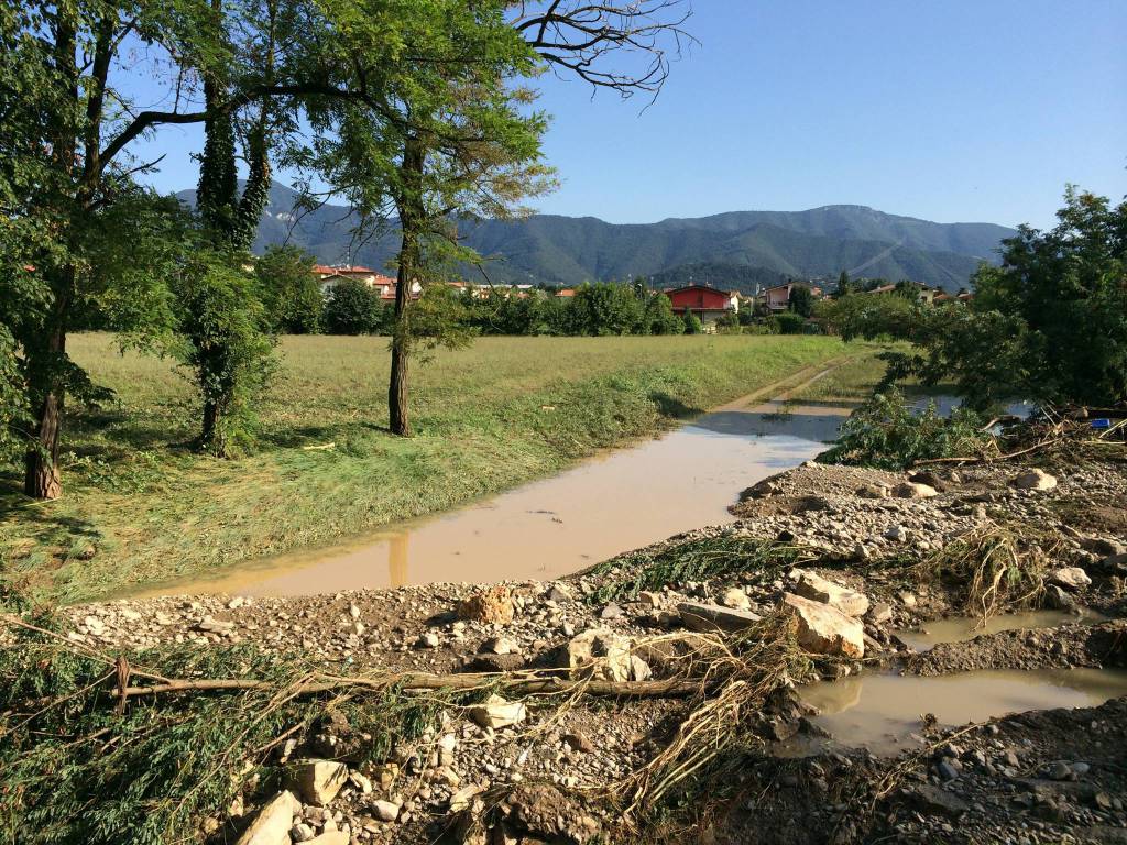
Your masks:
{"label": "slender bare trunk of the rightmost tall tree in the grass", "polygon": [[399,272],[396,275],[396,317],[391,335],[391,382],[388,385],[388,416],[392,434],[401,437],[411,436],[410,422],[407,418],[407,365],[410,357],[411,333],[408,321],[411,285],[415,283],[419,268],[419,237],[424,222],[423,208],[423,168],[426,154],[421,142],[415,136],[408,136],[403,146],[403,160],[400,164],[402,187],[397,205],[399,206],[399,226],[401,240],[399,244]]}

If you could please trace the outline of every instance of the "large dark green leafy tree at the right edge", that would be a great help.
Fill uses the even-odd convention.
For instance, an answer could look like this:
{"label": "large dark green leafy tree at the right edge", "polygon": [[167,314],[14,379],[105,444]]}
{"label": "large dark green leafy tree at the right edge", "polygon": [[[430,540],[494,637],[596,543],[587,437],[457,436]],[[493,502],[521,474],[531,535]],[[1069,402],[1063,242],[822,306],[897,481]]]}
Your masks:
{"label": "large dark green leafy tree at the right edge", "polygon": [[966,309],[923,322],[891,375],[952,379],[975,408],[1006,398],[1108,406],[1127,398],[1127,203],[1070,187],[1058,224],[1022,226],[983,265]]}

